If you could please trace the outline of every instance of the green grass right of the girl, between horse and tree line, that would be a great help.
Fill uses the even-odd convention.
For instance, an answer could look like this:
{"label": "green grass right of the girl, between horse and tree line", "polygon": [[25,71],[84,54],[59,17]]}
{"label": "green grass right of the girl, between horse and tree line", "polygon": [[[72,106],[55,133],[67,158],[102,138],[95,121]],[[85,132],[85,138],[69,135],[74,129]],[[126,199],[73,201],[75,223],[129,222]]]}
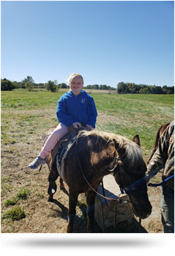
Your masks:
{"label": "green grass right of the girl, between horse and tree line", "polygon": [[[174,95],[93,96],[98,111],[111,116],[105,129],[130,139],[139,134],[141,145],[147,149],[153,147],[158,127],[174,120]],[[115,123],[116,117],[121,122]]]}

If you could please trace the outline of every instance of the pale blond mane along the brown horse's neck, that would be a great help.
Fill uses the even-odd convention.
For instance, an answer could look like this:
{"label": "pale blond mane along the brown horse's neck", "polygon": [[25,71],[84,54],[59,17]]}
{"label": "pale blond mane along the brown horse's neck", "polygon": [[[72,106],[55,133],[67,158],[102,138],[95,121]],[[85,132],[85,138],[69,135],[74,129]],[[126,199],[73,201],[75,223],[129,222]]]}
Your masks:
{"label": "pale blond mane along the brown horse's neck", "polygon": [[124,136],[116,135],[114,133],[106,132],[106,131],[81,131],[79,137],[88,137],[93,136],[97,139],[101,137],[107,143],[114,145],[116,142],[119,144],[119,148],[125,149],[125,154],[122,158],[125,158],[126,161],[130,162],[130,166],[132,167],[136,161],[140,161],[143,159],[143,154],[141,147],[139,147],[136,143]]}

